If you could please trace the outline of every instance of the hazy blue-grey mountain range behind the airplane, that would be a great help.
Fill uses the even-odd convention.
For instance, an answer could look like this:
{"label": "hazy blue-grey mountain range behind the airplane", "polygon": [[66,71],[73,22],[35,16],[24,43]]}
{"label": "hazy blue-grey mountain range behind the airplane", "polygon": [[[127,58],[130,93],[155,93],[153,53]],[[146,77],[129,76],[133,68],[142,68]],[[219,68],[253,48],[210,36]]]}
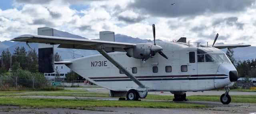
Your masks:
{"label": "hazy blue-grey mountain range behind the airplane", "polygon": [[[79,35],[73,35],[68,32],[63,32],[54,29],[54,36],[56,37],[70,37],[70,38],[78,38],[78,39],[86,39],[85,37]],[[99,39],[94,39],[99,40]],[[148,43],[152,42],[151,40],[146,39],[139,39],[133,38],[126,35],[116,34],[115,35],[116,42],[123,42],[123,43]],[[156,40],[161,41],[161,40]],[[37,43],[29,43],[31,48],[35,48],[38,51],[38,44]],[[0,51],[8,49],[11,53],[14,52],[14,49],[18,46],[24,46],[26,50],[29,50],[26,43],[23,42],[11,42],[11,41],[3,41],[0,42]],[[74,58],[80,58],[82,56],[90,56],[94,54],[99,54],[99,52],[95,50],[80,50],[80,49],[67,49],[67,48],[57,48],[58,45],[54,46],[54,52],[58,52],[62,60],[70,60]],[[227,49],[222,49],[222,51],[226,52]],[[234,58],[236,60],[250,60],[256,58],[256,46],[249,46],[244,48],[234,48]]]}

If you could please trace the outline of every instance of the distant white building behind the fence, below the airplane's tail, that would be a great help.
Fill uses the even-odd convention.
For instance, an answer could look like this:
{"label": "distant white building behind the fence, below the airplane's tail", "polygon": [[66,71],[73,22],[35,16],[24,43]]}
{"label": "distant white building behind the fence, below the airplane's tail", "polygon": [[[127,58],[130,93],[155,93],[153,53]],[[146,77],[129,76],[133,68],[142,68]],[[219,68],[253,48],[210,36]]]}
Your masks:
{"label": "distant white building behind the fence, below the airplane's tail", "polygon": [[[56,75],[59,75],[61,79],[65,78],[67,76],[67,73],[70,71],[70,68],[68,68],[64,64],[55,64],[55,71],[53,73],[44,73],[44,77],[46,77],[48,80],[54,79]],[[58,70],[58,73],[56,73],[56,70]]]}

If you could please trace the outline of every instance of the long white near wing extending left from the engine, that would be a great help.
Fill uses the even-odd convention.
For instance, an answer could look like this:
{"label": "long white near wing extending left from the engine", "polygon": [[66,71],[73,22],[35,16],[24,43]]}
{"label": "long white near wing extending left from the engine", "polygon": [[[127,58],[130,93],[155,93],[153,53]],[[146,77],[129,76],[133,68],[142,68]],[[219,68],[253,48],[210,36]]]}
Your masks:
{"label": "long white near wing extending left from the engine", "polygon": [[119,43],[110,41],[97,41],[88,39],[74,39],[66,37],[52,37],[44,35],[21,35],[11,41],[20,41],[26,43],[46,43],[46,44],[60,44],[59,48],[74,48],[96,50],[94,46],[104,46],[106,51],[120,51],[125,52],[124,48],[133,48],[136,44]]}

